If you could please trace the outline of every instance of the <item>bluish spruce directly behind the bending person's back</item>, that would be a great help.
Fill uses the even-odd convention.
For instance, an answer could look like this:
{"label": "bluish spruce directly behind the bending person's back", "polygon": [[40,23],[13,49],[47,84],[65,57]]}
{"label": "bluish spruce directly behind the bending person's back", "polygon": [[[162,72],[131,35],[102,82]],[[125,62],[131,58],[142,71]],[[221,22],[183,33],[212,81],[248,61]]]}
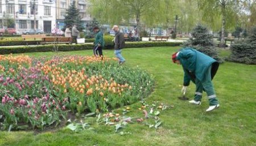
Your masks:
{"label": "bluish spruce directly behind the bending person's back", "polygon": [[207,27],[198,24],[191,33],[192,37],[187,42],[184,42],[183,46],[188,46],[201,51],[204,54],[216,59],[219,63],[223,60],[218,56],[217,48],[213,44],[212,35],[209,34]]}

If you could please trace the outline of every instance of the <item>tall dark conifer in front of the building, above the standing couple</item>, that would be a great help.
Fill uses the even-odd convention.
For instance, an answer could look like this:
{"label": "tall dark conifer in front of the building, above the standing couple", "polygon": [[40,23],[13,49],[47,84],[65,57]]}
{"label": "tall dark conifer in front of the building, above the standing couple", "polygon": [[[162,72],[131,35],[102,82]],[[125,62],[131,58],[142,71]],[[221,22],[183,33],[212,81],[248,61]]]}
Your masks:
{"label": "tall dark conifer in front of the building, above the standing couple", "polygon": [[79,16],[79,9],[76,8],[75,1],[73,1],[72,5],[69,6],[69,8],[67,9],[67,15],[65,15],[64,23],[65,27],[63,28],[63,31],[65,31],[67,26],[73,26],[75,24],[77,25],[77,29],[79,31],[82,31],[82,29],[84,29],[81,18]]}

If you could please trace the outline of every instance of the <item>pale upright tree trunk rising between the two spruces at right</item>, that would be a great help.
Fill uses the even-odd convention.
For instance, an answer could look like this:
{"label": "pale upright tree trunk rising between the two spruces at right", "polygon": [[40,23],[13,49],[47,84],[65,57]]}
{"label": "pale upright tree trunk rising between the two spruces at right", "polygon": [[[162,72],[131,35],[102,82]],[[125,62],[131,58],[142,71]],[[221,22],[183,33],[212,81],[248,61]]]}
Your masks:
{"label": "pale upright tree trunk rising between the two spruces at right", "polygon": [[221,13],[222,13],[222,26],[221,26],[220,47],[224,48],[225,47],[225,25],[226,25],[226,3],[225,3],[225,0],[222,0]]}

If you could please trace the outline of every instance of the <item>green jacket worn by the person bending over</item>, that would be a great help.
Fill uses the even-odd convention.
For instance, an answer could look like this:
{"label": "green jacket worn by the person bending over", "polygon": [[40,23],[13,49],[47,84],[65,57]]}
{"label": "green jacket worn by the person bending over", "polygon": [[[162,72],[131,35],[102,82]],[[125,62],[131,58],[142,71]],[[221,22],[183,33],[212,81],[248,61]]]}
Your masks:
{"label": "green jacket worn by the person bending over", "polygon": [[181,49],[176,59],[180,61],[183,67],[183,85],[185,86],[189,85],[190,80],[195,80],[195,78],[201,81],[204,78],[205,71],[210,66],[212,66],[212,79],[218,70],[218,62],[215,59],[192,48]]}

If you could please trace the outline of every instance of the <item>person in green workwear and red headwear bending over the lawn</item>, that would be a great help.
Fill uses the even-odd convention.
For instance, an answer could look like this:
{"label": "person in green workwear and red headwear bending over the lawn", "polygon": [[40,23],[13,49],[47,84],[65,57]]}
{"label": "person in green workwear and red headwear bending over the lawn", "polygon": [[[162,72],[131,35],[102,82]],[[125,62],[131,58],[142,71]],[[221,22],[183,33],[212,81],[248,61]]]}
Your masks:
{"label": "person in green workwear and red headwear bending over the lawn", "polygon": [[203,91],[207,93],[209,108],[206,111],[217,109],[217,96],[213,88],[212,79],[218,70],[218,62],[192,48],[183,48],[172,55],[172,61],[182,65],[184,70],[184,82],[181,92],[184,92],[192,81],[196,84],[195,98],[189,101],[191,104],[201,105]]}

